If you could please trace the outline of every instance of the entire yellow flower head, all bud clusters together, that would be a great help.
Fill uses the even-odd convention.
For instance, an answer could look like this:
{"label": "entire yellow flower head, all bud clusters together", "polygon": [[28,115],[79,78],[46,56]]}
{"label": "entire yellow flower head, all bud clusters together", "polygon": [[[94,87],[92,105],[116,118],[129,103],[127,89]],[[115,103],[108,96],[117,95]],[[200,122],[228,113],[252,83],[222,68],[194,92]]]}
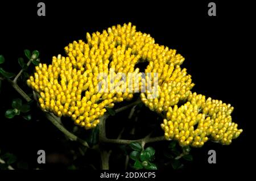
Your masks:
{"label": "entire yellow flower head, all bud clusters together", "polygon": [[[228,145],[242,132],[232,123],[230,104],[205,100],[205,96],[191,92],[191,75],[180,67],[184,57],[156,44],[150,35],[137,32],[131,23],[102,33],[86,33],[86,40],[65,47],[67,57],[58,55],[51,65],[36,66],[34,76],[27,80],[40,95],[43,111],[72,117],[77,125],[90,129],[100,123],[106,107],[112,108],[115,103],[132,99],[134,92],[141,92],[145,106],[166,116],[161,126],[167,140],[178,140],[181,146],[202,146],[208,137]],[[143,77],[135,65],[144,61],[148,66]],[[137,81],[113,78],[111,70],[115,74],[137,73]],[[101,73],[105,78],[100,77]],[[154,73],[157,82],[150,79]],[[157,83],[155,89],[143,91],[151,83]],[[104,85],[108,90],[115,89],[102,92]],[[177,107],[178,103],[184,104]]]}

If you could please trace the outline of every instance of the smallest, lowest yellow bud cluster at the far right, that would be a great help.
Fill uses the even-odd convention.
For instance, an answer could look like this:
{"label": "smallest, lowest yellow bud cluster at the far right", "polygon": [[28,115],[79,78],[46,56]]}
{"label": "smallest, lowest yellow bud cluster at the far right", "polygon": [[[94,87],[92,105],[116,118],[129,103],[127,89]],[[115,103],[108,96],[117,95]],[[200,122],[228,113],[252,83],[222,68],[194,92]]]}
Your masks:
{"label": "smallest, lowest yellow bud cluster at the far right", "polygon": [[167,140],[178,140],[181,146],[201,147],[208,137],[229,145],[242,133],[242,129],[238,130],[237,124],[232,123],[230,114],[233,109],[221,100],[205,100],[204,95],[194,92],[189,94],[184,105],[168,108],[161,127]]}

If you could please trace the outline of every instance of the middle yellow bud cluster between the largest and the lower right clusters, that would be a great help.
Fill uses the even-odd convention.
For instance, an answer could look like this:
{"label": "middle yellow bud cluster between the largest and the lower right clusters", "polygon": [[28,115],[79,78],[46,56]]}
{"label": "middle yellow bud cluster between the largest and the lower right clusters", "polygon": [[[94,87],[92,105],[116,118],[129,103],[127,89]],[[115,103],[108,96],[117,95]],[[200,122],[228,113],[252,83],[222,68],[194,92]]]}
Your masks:
{"label": "middle yellow bud cluster between the largest and the lower right clusters", "polygon": [[[158,65],[157,62],[155,64]],[[152,64],[148,66],[146,71],[151,71],[151,66]],[[188,98],[194,84],[191,75],[187,75],[186,69],[181,70],[179,65],[174,66],[171,63],[170,65],[159,66],[155,71],[158,72],[159,77],[158,89],[146,91],[146,94],[141,93],[142,102],[151,111],[158,113],[168,111],[169,107]],[[156,98],[153,97],[153,94],[156,95]]]}

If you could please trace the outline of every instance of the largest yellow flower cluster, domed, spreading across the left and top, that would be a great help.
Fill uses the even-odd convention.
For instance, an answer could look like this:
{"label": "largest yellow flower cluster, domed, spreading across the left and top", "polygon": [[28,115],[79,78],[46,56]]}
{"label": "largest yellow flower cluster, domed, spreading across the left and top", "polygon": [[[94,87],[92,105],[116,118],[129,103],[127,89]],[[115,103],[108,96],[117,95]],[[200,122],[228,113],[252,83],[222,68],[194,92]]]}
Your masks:
{"label": "largest yellow flower cluster, domed, spreading across the left and top", "polygon": [[[67,57],[58,55],[52,58],[51,65],[36,66],[34,77],[27,80],[28,86],[39,93],[42,110],[57,116],[71,116],[76,124],[86,129],[96,127],[106,112],[105,107],[112,108],[116,102],[130,100],[133,92],[141,90],[142,82],[146,81],[142,80],[138,68],[134,70],[135,64],[151,61],[148,70],[158,72],[162,71],[164,64],[170,64],[171,68],[184,61],[175,50],[155,44],[150,35],[137,32],[131,23],[113,26],[102,33],[86,33],[86,39],[87,43],[73,41],[65,47]],[[158,61],[160,64],[155,64]],[[164,68],[166,70],[168,66]],[[115,75],[137,73],[134,79],[138,81],[127,82],[126,85],[121,77],[114,76],[113,79],[111,69]],[[99,78],[101,73],[106,73],[107,78]],[[168,78],[170,74],[171,71],[163,72],[161,76]],[[176,74],[184,72],[179,69]],[[115,86],[117,82],[119,87]],[[108,90],[115,86],[115,89],[100,91],[105,89],[104,86]]]}

